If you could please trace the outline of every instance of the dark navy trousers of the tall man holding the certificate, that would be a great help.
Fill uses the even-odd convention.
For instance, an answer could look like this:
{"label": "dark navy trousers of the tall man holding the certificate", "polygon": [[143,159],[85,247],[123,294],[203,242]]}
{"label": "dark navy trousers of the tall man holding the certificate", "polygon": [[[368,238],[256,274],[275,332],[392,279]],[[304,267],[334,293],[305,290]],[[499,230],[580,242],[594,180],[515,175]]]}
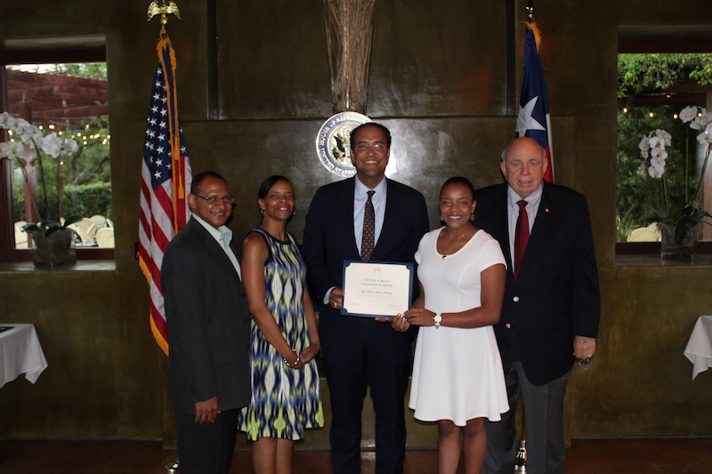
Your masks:
{"label": "dark navy trousers of the tall man holding the certificate", "polygon": [[[395,337],[388,334],[389,341],[369,337],[365,326],[381,335],[387,329]],[[404,398],[412,338],[393,332],[384,323],[368,321],[365,326],[360,325],[361,332],[352,333],[341,344],[321,338],[332,413],[331,461],[335,474],[360,473],[361,410],[370,388],[376,413],[376,474],[399,474],[406,446]]]}

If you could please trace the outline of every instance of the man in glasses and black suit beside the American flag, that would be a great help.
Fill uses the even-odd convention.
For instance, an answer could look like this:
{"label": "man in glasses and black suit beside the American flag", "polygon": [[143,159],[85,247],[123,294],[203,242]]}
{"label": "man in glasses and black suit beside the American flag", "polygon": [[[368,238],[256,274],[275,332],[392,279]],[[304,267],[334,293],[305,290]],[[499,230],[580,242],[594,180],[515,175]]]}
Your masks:
{"label": "man in glasses and black suit beside the American flag", "polygon": [[238,409],[250,401],[247,297],[225,227],[234,202],[222,176],[198,174],[188,196],[193,215],[163,259],[182,474],[227,474]]}

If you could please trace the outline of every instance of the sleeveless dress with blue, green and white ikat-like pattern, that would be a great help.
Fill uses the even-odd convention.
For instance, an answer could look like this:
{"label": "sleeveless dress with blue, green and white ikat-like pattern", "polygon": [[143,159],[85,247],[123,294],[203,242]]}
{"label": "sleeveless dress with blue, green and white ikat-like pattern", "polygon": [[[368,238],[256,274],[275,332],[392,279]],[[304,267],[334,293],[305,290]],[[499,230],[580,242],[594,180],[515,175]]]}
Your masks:
{"label": "sleeveless dress with blue, green and white ikat-like pattern", "polygon": [[[263,229],[254,231],[263,236],[270,253],[264,264],[267,307],[289,346],[301,352],[310,345],[303,306],[306,267],[302,256],[289,233],[287,242],[282,242]],[[301,370],[289,368],[254,319],[250,328],[252,400],[240,410],[238,429],[245,431],[249,440],[297,440],[304,437],[304,429],[324,426],[316,360]]]}

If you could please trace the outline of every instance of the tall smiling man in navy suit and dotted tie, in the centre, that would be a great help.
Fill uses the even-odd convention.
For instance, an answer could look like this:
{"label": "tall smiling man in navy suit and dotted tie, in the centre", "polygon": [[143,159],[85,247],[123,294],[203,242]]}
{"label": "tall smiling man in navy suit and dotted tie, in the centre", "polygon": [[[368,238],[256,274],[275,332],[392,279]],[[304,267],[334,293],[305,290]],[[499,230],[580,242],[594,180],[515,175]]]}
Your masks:
{"label": "tall smiling man in navy suit and dotted tie, in the centre", "polygon": [[[414,261],[428,217],[421,193],[385,178],[391,154],[388,129],[360,125],[351,143],[356,177],[316,192],[306,216],[302,255],[307,279],[323,303],[319,329],[331,400],[334,472],[360,472],[361,409],[369,387],[376,412],[376,473],[397,473],[403,470],[404,398],[415,333],[397,333],[370,317],[341,316],[343,269],[347,260]],[[364,222],[369,203],[372,231]]]}

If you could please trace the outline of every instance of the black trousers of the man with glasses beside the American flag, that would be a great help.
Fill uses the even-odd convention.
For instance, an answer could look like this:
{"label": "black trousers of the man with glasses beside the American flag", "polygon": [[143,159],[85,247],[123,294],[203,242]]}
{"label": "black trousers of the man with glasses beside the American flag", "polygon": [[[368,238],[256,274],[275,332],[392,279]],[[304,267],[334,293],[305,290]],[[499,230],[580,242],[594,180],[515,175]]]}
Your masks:
{"label": "black trousers of the man with glasses beside the American flag", "polygon": [[197,424],[195,414],[176,409],[175,429],[181,474],[228,474],[238,431],[237,409],[218,414],[208,424]]}

